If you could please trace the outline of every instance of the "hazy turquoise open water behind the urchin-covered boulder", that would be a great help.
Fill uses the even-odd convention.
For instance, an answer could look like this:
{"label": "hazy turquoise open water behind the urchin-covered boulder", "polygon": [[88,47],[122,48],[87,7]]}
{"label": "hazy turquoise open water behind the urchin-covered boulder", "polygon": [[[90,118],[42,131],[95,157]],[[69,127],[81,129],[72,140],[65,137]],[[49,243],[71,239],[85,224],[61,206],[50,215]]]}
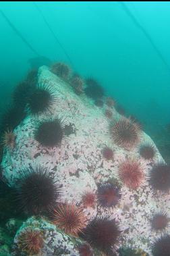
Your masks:
{"label": "hazy turquoise open water behind the urchin-covered boulder", "polygon": [[[170,2],[159,1],[2,1],[1,120],[30,70],[61,61],[82,78],[95,78],[117,111],[138,121],[170,163],[169,14]],[[0,244],[9,247],[26,217],[13,211],[12,197],[2,182]],[[5,226],[16,216],[14,229]]]}

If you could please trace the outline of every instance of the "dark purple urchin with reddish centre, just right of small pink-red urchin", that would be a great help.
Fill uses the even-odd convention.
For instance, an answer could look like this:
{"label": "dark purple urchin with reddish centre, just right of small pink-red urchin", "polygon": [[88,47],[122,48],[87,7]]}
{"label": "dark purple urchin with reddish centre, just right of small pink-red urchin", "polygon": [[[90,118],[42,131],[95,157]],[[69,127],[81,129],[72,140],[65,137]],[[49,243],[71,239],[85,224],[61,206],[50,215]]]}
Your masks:
{"label": "dark purple urchin with reddish centre, just right of small pink-red urchin", "polygon": [[103,207],[114,207],[121,199],[120,189],[106,183],[98,186],[98,203]]}

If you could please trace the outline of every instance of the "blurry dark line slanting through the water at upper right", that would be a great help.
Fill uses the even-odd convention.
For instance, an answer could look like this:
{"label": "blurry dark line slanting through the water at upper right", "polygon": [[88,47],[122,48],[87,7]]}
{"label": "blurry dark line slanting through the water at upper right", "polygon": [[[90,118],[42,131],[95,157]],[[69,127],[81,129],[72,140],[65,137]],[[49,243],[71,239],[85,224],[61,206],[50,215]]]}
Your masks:
{"label": "blurry dark line slanting through the water at upper right", "polygon": [[167,63],[166,59],[163,57],[161,51],[159,51],[157,45],[155,45],[155,43],[152,40],[152,37],[150,36],[150,34],[148,34],[146,29],[140,24],[140,22],[138,22],[138,20],[136,20],[136,17],[132,14],[130,9],[128,8],[128,6],[124,2],[118,2],[118,3],[121,4],[122,9],[131,18],[132,22],[134,22],[134,24],[143,32],[143,34],[146,36],[146,39],[148,39],[148,41],[150,42],[150,44],[154,48],[154,51],[157,52],[157,55],[159,55],[159,58],[163,61],[163,63],[165,64],[165,66],[167,67],[167,69],[170,72],[169,64]]}

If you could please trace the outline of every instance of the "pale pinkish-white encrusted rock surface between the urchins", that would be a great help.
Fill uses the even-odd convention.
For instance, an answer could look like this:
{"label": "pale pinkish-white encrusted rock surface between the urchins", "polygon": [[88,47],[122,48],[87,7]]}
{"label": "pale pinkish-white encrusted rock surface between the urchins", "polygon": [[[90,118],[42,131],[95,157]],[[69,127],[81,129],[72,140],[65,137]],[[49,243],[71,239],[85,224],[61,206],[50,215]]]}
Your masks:
{"label": "pale pinkish-white encrusted rock surface between the urchins", "polygon": [[[10,186],[28,165],[40,164],[49,168],[49,174],[55,176],[57,184],[62,185],[61,202],[74,201],[76,205],[83,206],[82,195],[86,191],[97,193],[98,184],[117,179],[121,184],[121,200],[115,207],[84,207],[88,216],[88,222],[95,216],[109,215],[115,218],[121,229],[119,247],[128,246],[140,248],[151,255],[153,238],[160,237],[151,229],[150,219],[159,210],[169,211],[170,196],[155,197],[150,188],[147,175],[154,163],[163,161],[159,151],[152,160],[144,160],[140,157],[139,147],[128,151],[118,147],[109,134],[109,125],[121,118],[114,107],[110,110],[113,118],[110,120],[105,116],[106,105],[99,108],[85,95],[76,95],[72,86],[59,77],[52,74],[45,66],[38,71],[38,82],[48,83],[56,89],[57,101],[53,104],[53,113],[47,119],[63,118],[67,134],[61,142],[60,147],[45,149],[34,139],[34,130],[45,117],[35,118],[28,115],[23,122],[14,130],[16,134],[16,147],[13,150],[5,149],[3,154],[2,168],[3,178]],[[140,143],[150,142],[151,138],[144,132],[140,135]],[[103,149],[113,149],[113,160],[103,158]],[[141,186],[132,190],[127,188],[119,180],[118,167],[121,161],[127,157],[133,157],[144,165],[144,182]],[[36,220],[31,217],[18,230],[15,242],[18,242],[18,234],[26,226],[38,225],[45,232],[45,247],[42,255],[58,255],[58,248],[67,252],[59,255],[79,255],[76,249],[76,238],[70,238],[53,224],[44,219]],[[168,230],[170,232],[170,229]],[[78,241],[79,242],[79,241]]]}

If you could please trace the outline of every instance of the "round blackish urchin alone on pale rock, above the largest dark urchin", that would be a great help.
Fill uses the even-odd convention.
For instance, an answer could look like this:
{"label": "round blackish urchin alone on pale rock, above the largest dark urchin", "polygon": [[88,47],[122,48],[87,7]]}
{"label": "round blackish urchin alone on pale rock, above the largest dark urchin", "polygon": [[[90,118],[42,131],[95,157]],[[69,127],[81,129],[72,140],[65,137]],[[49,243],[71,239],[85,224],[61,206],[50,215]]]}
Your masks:
{"label": "round blackish urchin alone on pale rock, above the largest dark urchin", "polygon": [[49,149],[60,145],[64,136],[63,122],[61,119],[49,120],[40,123],[34,133],[34,138],[42,145]]}

